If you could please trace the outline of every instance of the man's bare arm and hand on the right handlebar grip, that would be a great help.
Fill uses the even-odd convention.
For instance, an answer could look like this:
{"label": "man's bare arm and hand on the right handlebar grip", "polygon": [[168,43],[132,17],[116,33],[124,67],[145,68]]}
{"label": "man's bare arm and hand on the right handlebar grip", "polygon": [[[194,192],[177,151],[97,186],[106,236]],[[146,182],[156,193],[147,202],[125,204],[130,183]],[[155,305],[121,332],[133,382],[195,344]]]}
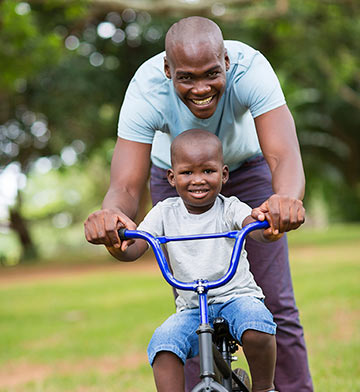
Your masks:
{"label": "man's bare arm and hand on the right handlebar grip", "polygon": [[265,214],[275,234],[296,229],[305,220],[305,176],[294,120],[283,105],[256,117],[255,125],[271,170],[274,195],[254,209],[252,216],[258,219]]}

